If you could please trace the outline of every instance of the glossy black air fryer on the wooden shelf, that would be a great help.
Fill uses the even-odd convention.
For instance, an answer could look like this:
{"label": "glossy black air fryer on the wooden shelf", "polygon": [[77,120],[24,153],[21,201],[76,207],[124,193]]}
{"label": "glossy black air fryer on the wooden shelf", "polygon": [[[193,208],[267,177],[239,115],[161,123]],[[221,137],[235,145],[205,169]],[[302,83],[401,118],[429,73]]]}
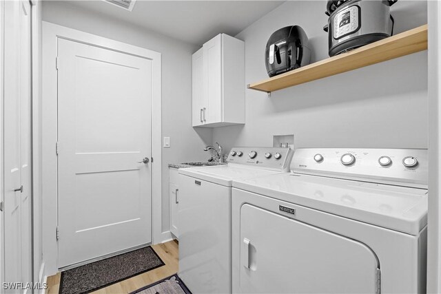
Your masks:
{"label": "glossy black air fryer on the wooden shelf", "polygon": [[308,37],[300,26],[289,25],[269,37],[265,65],[270,77],[307,65],[310,59]]}

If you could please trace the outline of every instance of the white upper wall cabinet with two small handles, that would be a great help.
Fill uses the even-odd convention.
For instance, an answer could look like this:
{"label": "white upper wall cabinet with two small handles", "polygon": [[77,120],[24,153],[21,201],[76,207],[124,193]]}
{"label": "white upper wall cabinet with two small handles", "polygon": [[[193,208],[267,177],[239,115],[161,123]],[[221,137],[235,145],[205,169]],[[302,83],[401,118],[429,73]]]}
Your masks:
{"label": "white upper wall cabinet with two small handles", "polygon": [[194,127],[245,123],[245,43],[218,34],[193,54]]}

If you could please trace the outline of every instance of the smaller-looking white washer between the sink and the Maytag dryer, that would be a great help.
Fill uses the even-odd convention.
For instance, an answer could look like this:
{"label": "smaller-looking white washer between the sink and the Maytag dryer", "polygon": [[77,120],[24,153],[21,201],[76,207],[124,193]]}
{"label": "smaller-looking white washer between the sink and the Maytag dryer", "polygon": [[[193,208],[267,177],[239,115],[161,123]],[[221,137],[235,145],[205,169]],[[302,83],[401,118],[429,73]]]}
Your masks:
{"label": "smaller-looking white washer between the sink and the Maytag dryer", "polygon": [[234,147],[228,165],[179,169],[179,272],[192,293],[232,292],[232,181],[289,174],[289,148]]}

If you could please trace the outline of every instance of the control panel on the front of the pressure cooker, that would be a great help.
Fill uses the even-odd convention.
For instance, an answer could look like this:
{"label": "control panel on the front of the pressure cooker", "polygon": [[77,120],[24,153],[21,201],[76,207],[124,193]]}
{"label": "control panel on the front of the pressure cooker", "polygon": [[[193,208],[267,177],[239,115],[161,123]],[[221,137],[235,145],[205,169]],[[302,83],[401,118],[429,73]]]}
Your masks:
{"label": "control panel on the front of the pressure cooker", "polygon": [[334,39],[352,34],[360,28],[360,7],[350,6],[334,16],[332,31]]}

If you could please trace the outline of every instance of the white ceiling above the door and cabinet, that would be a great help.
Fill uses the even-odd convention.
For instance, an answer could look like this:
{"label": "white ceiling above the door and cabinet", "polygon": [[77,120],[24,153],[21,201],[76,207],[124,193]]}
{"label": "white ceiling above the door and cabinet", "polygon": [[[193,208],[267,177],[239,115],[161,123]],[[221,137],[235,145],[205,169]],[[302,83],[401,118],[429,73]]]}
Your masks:
{"label": "white ceiling above the door and cabinet", "polygon": [[220,32],[234,36],[283,2],[137,0],[130,12],[102,0],[70,1],[195,45],[202,45]]}

